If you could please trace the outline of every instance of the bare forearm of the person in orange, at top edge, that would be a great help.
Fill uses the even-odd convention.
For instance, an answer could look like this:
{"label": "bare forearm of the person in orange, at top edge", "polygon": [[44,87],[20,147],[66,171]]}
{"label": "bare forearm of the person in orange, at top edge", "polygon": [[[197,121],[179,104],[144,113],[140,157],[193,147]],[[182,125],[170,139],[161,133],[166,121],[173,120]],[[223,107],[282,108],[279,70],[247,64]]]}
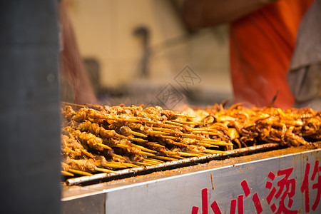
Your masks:
{"label": "bare forearm of the person in orange, at top edge", "polygon": [[183,19],[190,29],[240,19],[277,0],[185,0]]}

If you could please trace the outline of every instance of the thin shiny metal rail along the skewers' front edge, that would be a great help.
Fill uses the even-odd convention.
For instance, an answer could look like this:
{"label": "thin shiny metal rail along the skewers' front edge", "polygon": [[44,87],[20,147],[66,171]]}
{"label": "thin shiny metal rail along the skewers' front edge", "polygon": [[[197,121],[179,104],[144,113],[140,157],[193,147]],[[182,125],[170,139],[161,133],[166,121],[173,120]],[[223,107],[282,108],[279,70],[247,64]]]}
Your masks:
{"label": "thin shiny metal rail along the skewers' front edge", "polygon": [[129,168],[125,170],[118,170],[117,173],[99,173],[96,175],[91,175],[91,176],[82,176],[78,178],[70,178],[66,180],[66,185],[84,185],[86,183],[90,182],[98,182],[99,180],[103,180],[105,178],[119,178],[121,175],[135,175],[137,173],[148,173],[151,171],[155,170],[164,170],[169,167],[173,168],[178,168],[183,165],[193,165],[195,163],[200,163],[201,161],[210,161],[214,159],[223,159],[223,158],[228,158],[228,157],[233,157],[245,153],[251,153],[251,152],[259,152],[262,150],[270,150],[270,149],[275,149],[279,147],[279,143],[267,143],[259,146],[251,146],[247,148],[240,148],[240,149],[235,149],[233,151],[228,151],[227,154],[213,154],[213,155],[208,155],[208,156],[201,156],[201,157],[193,157],[193,158],[185,158],[183,160],[178,160],[178,161],[168,161],[159,165],[154,165],[154,166],[144,166],[144,167],[139,167],[139,168]]}

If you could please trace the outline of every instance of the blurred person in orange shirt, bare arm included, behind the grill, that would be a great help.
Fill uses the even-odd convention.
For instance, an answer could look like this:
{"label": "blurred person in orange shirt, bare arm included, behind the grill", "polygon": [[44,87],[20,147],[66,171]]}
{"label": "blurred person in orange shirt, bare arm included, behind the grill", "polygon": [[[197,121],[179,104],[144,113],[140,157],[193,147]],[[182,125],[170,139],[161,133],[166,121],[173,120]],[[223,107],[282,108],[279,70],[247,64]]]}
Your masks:
{"label": "blurred person in orange shirt, bare arm included, behind the grill", "polygon": [[[314,0],[185,0],[183,19],[191,30],[215,24],[230,24],[230,73],[235,103],[263,107],[274,102],[275,107],[291,108],[297,106],[295,103],[300,99],[293,96],[291,89],[296,88],[292,86],[290,89],[287,73],[295,50],[297,30],[313,2]],[[320,19],[314,24],[320,26]],[[320,32],[317,34],[321,38]],[[300,63],[291,68],[297,69],[302,65]],[[289,74],[289,81],[296,79],[297,83],[304,82],[304,72],[299,73],[301,78]],[[320,70],[318,73],[319,82],[315,83],[315,87],[319,88],[315,88],[312,93],[319,91],[319,95],[318,98],[310,98],[320,100]],[[297,92],[294,95],[305,96],[305,93]],[[304,102],[308,105],[307,99]],[[320,108],[320,105],[316,104],[315,108]]]}

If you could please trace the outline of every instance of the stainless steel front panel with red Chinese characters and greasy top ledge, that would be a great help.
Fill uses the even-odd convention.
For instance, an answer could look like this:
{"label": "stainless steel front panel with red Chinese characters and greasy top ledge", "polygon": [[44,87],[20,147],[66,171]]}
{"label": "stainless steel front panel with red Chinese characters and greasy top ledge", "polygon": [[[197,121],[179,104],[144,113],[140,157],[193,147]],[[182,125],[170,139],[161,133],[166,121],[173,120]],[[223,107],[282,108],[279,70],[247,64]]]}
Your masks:
{"label": "stainless steel front panel with red Chinese characters and greasy top ledge", "polygon": [[[303,188],[309,190],[309,213],[320,213],[321,205],[315,202],[317,188],[312,188],[320,185],[320,172],[315,178],[312,175],[317,164],[321,166],[320,151],[286,148],[96,185],[71,186],[63,188],[61,200],[63,205],[90,200],[100,207],[103,200],[99,213],[233,213],[234,208],[235,213],[277,213],[281,208],[307,213]],[[288,178],[284,172],[289,173]],[[305,183],[307,180],[309,183]],[[304,184],[308,184],[306,189]],[[275,194],[268,203],[273,188]],[[277,195],[279,190],[281,194]],[[63,206],[63,213],[86,213],[70,207]]]}

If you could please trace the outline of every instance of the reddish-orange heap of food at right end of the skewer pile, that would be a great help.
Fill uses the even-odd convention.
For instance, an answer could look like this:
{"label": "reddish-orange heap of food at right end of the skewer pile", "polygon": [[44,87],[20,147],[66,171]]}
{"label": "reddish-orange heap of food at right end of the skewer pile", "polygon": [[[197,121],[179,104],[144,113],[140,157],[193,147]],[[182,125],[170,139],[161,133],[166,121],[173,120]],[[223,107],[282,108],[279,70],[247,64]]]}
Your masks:
{"label": "reddish-orange heap of food at right end of the skewer pile", "polygon": [[[228,109],[215,104],[205,110],[188,109],[185,113],[194,115],[198,118],[196,121],[203,121],[207,126],[225,127],[222,140],[233,143],[233,148],[263,143],[315,146],[321,140],[321,111],[311,108],[244,108],[236,103]],[[228,138],[224,138],[226,136]]]}

